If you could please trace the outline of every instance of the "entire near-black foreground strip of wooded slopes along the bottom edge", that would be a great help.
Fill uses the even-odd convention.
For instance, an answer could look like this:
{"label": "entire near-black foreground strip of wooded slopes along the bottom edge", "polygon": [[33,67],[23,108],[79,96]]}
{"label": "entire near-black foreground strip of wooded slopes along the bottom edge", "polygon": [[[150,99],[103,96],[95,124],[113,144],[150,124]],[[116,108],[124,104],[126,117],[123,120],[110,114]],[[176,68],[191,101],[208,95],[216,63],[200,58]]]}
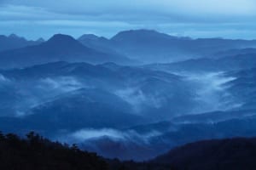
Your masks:
{"label": "entire near-black foreground strip of wooded slopes along the bottom edge", "polygon": [[44,139],[0,132],[0,170],[255,170],[256,138],[186,144],[152,161],[105,159],[96,153]]}

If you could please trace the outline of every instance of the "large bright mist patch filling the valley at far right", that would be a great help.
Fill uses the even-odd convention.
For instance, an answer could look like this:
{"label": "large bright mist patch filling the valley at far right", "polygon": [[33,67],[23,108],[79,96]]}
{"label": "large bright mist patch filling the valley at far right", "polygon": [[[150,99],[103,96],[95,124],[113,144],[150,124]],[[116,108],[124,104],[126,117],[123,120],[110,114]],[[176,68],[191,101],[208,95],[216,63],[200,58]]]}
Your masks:
{"label": "large bright mist patch filling the valley at far right", "polygon": [[224,87],[226,82],[233,81],[236,77],[225,77],[224,72],[188,74],[186,77],[195,86],[195,100],[199,103],[193,112],[226,111],[240,105]]}

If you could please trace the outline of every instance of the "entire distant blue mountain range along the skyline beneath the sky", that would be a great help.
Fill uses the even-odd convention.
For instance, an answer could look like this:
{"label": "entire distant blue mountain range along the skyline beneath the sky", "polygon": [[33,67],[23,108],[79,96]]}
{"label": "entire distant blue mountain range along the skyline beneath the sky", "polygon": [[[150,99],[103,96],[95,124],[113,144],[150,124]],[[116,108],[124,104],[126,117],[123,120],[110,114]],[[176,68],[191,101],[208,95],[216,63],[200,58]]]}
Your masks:
{"label": "entire distant blue mountain range along the skyline beneath the sky", "polygon": [[123,65],[169,63],[251,54],[255,52],[253,48],[256,48],[256,40],[192,39],[150,30],[121,31],[110,39],[93,34],[85,34],[77,40],[66,35],[55,35],[46,42],[42,39],[27,41],[11,35],[0,37],[0,67],[23,67],[60,60]]}

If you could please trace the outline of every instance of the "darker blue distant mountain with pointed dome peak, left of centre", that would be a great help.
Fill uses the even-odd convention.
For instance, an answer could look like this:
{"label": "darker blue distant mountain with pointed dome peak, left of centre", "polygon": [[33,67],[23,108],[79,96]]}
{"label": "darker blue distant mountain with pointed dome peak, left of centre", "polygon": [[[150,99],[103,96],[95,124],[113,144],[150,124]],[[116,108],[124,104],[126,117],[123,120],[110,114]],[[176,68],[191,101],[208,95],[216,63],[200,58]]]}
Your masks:
{"label": "darker blue distant mountain with pointed dome peak, left of centre", "polygon": [[87,48],[73,37],[55,35],[47,42],[36,46],[13,49],[0,53],[2,68],[25,67],[54,61],[103,63],[113,61],[117,63],[129,63],[127,59],[118,54],[108,54]]}

